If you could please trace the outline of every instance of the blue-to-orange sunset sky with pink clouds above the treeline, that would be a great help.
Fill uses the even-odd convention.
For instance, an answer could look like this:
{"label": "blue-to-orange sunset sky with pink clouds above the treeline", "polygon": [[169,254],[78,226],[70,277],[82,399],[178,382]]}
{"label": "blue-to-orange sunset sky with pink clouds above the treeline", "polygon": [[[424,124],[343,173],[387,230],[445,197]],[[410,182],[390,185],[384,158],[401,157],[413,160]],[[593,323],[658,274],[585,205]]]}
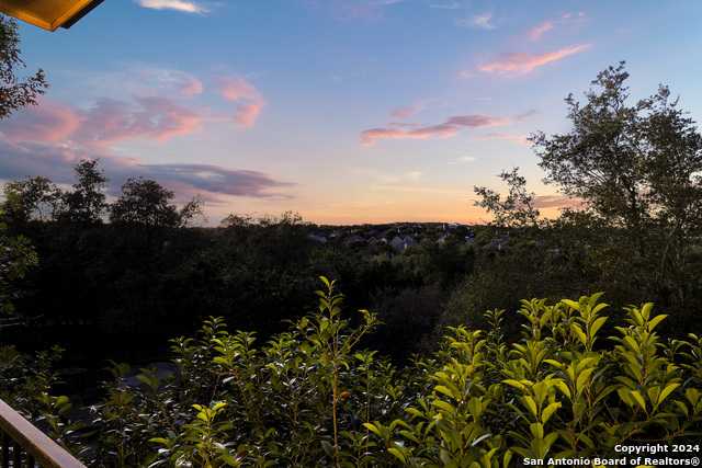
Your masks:
{"label": "blue-to-orange sunset sky with pink clouds above the treeline", "polygon": [[632,103],[660,83],[702,118],[702,2],[574,0],[105,0],[70,30],[21,23],[37,106],[0,121],[0,182],[70,187],[100,158],[210,225],[229,214],[352,225],[480,222],[474,186],[520,168],[526,138],[570,128],[564,99],[625,60]]}

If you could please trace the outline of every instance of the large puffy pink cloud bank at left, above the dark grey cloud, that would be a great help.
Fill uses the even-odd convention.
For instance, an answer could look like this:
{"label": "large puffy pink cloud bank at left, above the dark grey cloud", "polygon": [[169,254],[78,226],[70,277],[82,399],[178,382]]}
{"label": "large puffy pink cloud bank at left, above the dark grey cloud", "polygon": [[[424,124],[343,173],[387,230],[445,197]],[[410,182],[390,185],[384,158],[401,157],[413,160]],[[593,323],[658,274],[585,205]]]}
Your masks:
{"label": "large puffy pink cloud bank at left, above the dark grey cloud", "polygon": [[[202,132],[205,122],[224,118],[179,104],[178,99],[202,93],[197,79],[171,70],[144,71],[139,76],[147,87],[131,100],[100,98],[90,109],[79,110],[41,99],[38,106],[22,110],[3,123],[0,135],[9,142],[68,142],[97,150],[133,139],[163,144],[179,135]],[[252,126],[264,105],[258,91],[240,78],[219,78],[218,90],[237,104],[234,115],[226,119]]]}

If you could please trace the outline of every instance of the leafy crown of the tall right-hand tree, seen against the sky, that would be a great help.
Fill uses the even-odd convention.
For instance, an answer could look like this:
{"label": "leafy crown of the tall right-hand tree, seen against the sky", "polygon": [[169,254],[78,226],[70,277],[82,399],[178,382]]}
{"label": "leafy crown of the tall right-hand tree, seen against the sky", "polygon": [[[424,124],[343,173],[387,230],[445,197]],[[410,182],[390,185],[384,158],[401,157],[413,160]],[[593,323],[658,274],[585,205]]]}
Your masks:
{"label": "leafy crown of the tall right-hand tree, seen against the sky", "polygon": [[601,91],[587,92],[587,104],[566,98],[569,134],[531,136],[545,182],[630,229],[663,213],[689,219],[702,199],[700,134],[667,87],[627,106],[627,78],[624,62],[609,67],[592,81]]}

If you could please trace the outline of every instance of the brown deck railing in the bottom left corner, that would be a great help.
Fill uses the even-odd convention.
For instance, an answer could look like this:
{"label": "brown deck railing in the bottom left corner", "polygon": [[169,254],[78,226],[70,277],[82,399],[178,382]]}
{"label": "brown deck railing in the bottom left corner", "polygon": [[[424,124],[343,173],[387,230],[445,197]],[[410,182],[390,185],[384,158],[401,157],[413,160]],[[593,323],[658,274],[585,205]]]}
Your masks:
{"label": "brown deck railing in the bottom left corner", "polygon": [[[72,455],[0,400],[0,466],[86,468]],[[12,449],[10,449],[12,448]]]}

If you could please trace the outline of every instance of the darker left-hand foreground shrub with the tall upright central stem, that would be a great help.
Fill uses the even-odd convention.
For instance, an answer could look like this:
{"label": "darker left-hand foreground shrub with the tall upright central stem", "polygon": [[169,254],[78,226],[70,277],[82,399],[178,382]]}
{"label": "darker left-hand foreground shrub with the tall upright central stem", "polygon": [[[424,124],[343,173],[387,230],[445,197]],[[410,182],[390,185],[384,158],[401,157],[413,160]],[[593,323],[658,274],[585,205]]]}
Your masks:
{"label": "darker left-hand foreground shrub with the tall upright central stem", "polygon": [[197,343],[172,340],[176,379],[145,368],[143,385],[131,387],[120,380],[128,367],[115,366],[117,379],[93,408],[102,424],[94,463],[362,466],[372,446],[362,424],[389,421],[399,407],[386,395],[387,362],[353,351],[376,318],[361,311],[363,323],[351,328],[339,316],[343,296],[325,286],[318,313],[260,350],[252,333],[229,334],[213,318]]}

